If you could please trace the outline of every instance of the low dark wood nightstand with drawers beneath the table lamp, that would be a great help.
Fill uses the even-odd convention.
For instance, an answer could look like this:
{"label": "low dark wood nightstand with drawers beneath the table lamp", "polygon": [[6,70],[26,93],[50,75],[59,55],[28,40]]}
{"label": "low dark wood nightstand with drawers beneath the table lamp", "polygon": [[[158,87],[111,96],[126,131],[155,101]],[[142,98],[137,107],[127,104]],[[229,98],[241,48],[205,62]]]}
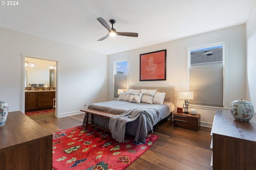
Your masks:
{"label": "low dark wood nightstand with drawers beneath the table lamp", "polygon": [[192,130],[199,130],[200,128],[200,114],[192,115],[186,113],[174,113],[173,125],[175,127],[188,128]]}

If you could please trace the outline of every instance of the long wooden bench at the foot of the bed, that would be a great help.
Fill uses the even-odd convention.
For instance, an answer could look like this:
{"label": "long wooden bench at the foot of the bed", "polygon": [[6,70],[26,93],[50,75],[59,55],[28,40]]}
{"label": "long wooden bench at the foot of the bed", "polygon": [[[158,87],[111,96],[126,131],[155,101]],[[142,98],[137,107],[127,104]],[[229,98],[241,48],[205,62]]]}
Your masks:
{"label": "long wooden bench at the foot of the bed", "polygon": [[[92,109],[83,109],[83,110],[80,110],[80,111],[85,112],[85,114],[86,114],[85,130],[87,130],[88,125],[91,125],[93,127],[97,127],[97,128],[100,128],[100,129],[103,129],[103,130],[106,130],[106,131],[110,132],[109,129],[102,128],[102,127],[99,127],[97,125],[94,125],[93,115],[106,117],[108,119],[110,119],[110,117],[112,117],[113,115],[117,115],[117,114],[114,114],[114,113],[108,113],[108,112],[104,112],[104,111],[96,111],[96,110],[92,110]],[[92,122],[88,122],[89,113],[92,115]]]}

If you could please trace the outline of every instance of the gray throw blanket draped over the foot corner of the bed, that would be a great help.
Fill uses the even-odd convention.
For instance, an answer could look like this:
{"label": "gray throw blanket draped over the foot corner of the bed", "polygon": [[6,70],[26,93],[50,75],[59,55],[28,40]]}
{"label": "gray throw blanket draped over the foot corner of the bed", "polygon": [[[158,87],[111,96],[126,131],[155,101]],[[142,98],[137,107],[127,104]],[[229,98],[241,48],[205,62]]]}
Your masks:
{"label": "gray throw blanket draped over the foot corner of the bed", "polygon": [[[114,115],[110,117],[109,130],[112,133],[112,137],[118,142],[124,142],[126,123],[135,121],[140,117],[140,115],[142,117],[142,121],[140,120],[138,123],[134,140],[135,142],[138,142],[146,138],[148,131],[153,131],[153,125],[157,123],[156,121],[159,111],[154,108],[132,109],[122,113],[121,115]],[[150,127],[150,129],[147,127]]]}

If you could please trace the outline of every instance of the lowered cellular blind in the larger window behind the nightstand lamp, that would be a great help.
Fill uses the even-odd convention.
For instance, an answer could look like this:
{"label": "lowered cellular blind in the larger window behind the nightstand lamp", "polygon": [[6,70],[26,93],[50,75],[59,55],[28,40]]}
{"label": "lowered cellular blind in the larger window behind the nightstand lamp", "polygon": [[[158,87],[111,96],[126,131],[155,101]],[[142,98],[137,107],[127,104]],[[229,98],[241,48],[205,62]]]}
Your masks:
{"label": "lowered cellular blind in the larger window behind the nightstand lamp", "polygon": [[190,105],[223,107],[223,64],[189,68]]}

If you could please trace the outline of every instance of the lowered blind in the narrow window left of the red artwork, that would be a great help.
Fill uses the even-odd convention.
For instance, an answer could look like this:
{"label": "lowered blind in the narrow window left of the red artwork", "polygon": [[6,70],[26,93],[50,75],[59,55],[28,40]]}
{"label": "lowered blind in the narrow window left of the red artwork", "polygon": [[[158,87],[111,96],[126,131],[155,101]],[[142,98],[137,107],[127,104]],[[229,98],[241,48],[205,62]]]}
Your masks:
{"label": "lowered blind in the narrow window left of the red artwork", "polygon": [[118,89],[127,89],[127,73],[114,74],[114,97],[119,97]]}

